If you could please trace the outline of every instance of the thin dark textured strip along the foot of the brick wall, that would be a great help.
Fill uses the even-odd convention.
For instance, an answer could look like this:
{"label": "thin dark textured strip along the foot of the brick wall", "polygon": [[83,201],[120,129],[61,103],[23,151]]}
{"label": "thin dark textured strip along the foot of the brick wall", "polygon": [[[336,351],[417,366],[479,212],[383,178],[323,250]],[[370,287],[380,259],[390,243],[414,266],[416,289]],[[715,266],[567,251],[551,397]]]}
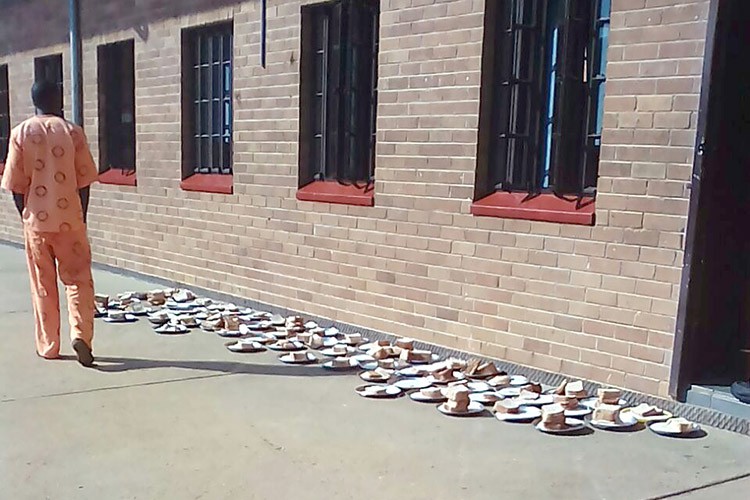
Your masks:
{"label": "thin dark textured strip along the foot of the brick wall", "polygon": [[[23,248],[23,245],[5,241],[3,240],[0,242],[2,244],[5,244],[6,246],[11,246],[15,248]],[[282,315],[293,315],[293,314],[299,314],[298,311],[292,311],[290,309],[273,306],[269,304],[264,304],[255,300],[245,299],[242,297],[236,297],[232,296],[226,293],[216,292],[213,290],[207,290],[201,287],[191,286],[184,283],[178,283],[175,281],[171,281],[168,279],[160,278],[158,276],[151,276],[144,273],[140,273],[137,271],[131,271],[128,269],[122,269],[119,267],[111,266],[108,264],[103,264],[99,262],[93,263],[94,269],[110,272],[112,274],[125,276],[129,278],[135,278],[142,281],[147,281],[154,283],[157,286],[162,286],[165,288],[186,288],[190,289],[193,292],[195,292],[198,295],[203,295],[206,297],[211,297],[215,300],[221,300],[225,302],[231,302],[243,307],[250,307],[257,310],[264,310],[269,311],[274,314],[282,314]],[[126,290],[123,290],[126,291]],[[354,333],[354,332],[360,332],[363,334],[363,336],[379,340],[379,339],[387,339],[387,340],[393,340],[397,338],[394,335],[370,330],[367,328],[360,328],[354,325],[349,325],[346,323],[334,323],[330,319],[327,318],[320,318],[313,315],[305,314],[305,319],[309,319],[312,321],[315,321],[320,324],[330,324],[335,326],[341,330],[344,333]],[[459,351],[457,349],[451,349],[435,344],[429,344],[426,342],[417,342],[417,345],[422,348],[429,348],[433,352],[440,354],[441,356],[445,357],[456,357],[460,359],[471,359],[471,358],[477,358],[479,356],[467,353],[465,351]],[[483,358],[487,359],[487,358]],[[565,377],[563,375],[560,375],[558,373],[552,373],[544,370],[540,370],[537,368],[530,368],[522,365],[518,365],[516,363],[511,363],[508,361],[503,361],[499,359],[492,359],[492,361],[495,362],[495,364],[498,366],[500,370],[505,370],[508,373],[521,373],[529,377],[530,379],[537,381],[539,383],[548,385],[548,386],[557,386],[559,385],[563,380],[570,379],[571,377]],[[600,387],[605,387],[602,384],[599,384],[597,382],[592,381],[584,381],[584,386],[589,391],[589,393],[595,393],[596,390]],[[638,392],[629,391],[626,389],[623,389],[623,398],[627,399],[631,404],[639,404],[639,403],[648,403],[652,405],[659,406],[660,408],[664,408],[675,415],[682,416],[684,418],[687,418],[689,420],[698,422],[703,425],[708,425],[711,427],[716,427],[718,429],[723,429],[731,432],[736,432],[738,434],[744,434],[750,436],[750,420],[746,420],[740,417],[727,415],[725,413],[722,413],[720,411],[706,408],[702,406],[696,406],[688,403],[682,403],[680,401],[674,401],[666,398],[661,398],[657,396],[652,396],[648,394],[642,394]]]}

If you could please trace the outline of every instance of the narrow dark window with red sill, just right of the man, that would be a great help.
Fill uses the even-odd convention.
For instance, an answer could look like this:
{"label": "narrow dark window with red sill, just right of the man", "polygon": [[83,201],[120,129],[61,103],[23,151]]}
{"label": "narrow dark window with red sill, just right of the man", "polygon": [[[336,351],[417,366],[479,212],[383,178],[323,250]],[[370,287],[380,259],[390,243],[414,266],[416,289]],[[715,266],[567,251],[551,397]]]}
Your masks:
{"label": "narrow dark window with red sill, just right of the man", "polygon": [[[104,182],[135,183],[135,61],[133,40],[100,45],[99,155]],[[128,178],[131,182],[127,182]],[[117,181],[122,182],[117,182]]]}

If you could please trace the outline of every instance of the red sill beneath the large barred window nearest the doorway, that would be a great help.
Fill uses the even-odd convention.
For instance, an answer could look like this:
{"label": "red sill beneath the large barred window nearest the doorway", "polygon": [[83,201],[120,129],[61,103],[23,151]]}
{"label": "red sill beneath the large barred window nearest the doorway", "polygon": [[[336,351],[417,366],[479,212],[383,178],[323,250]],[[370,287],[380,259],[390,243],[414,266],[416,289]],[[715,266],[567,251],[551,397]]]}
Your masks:
{"label": "red sill beneath the large barred window nearest the doorway", "polygon": [[496,192],[471,205],[473,215],[593,226],[594,198],[566,200],[554,194]]}

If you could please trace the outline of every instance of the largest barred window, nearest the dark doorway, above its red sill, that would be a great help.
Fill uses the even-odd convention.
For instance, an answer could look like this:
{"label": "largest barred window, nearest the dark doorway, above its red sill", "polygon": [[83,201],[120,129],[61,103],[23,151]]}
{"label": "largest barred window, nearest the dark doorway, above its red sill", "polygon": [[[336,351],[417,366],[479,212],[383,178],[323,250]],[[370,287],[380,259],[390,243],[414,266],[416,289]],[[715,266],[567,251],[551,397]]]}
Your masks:
{"label": "largest barred window, nearest the dark doorway, above its red sill", "polygon": [[611,0],[491,0],[477,195],[596,193]]}

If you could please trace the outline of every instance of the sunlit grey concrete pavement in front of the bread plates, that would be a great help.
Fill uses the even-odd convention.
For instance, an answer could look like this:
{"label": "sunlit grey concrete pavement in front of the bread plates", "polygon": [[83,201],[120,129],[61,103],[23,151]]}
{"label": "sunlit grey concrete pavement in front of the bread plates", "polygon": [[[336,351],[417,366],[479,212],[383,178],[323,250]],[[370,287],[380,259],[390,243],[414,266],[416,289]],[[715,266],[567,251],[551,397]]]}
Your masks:
{"label": "sunlit grey concrete pavement in front of the bread plates", "polygon": [[[152,286],[96,281],[105,293]],[[45,362],[28,293],[22,252],[0,246],[3,500],[730,500],[750,488],[747,437],[561,438],[451,419],[408,399],[362,399],[351,375],[232,354],[203,332],[97,323],[97,370]]]}

